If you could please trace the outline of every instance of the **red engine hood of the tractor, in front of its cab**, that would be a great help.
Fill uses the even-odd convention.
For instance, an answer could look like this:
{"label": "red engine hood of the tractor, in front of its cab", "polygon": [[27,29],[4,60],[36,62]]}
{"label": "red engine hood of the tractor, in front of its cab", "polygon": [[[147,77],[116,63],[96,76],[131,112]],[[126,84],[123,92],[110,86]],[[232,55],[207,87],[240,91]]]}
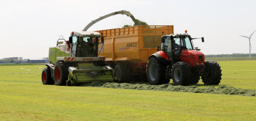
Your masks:
{"label": "red engine hood of the tractor, in front of its cab", "polygon": [[204,54],[197,50],[181,50],[180,59],[187,62],[190,67],[204,65]]}

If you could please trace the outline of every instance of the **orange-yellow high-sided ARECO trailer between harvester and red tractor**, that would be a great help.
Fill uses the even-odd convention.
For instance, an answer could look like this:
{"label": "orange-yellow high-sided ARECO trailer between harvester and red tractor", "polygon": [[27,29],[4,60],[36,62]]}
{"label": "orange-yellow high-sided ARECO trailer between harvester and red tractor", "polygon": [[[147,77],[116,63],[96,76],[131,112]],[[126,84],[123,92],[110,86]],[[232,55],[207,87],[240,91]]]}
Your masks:
{"label": "orange-yellow high-sided ARECO trailer between harvester and red tractor", "polygon": [[162,31],[174,34],[173,25],[138,25],[96,31],[105,37],[100,56],[114,68],[119,83],[146,79],[148,57],[161,45]]}

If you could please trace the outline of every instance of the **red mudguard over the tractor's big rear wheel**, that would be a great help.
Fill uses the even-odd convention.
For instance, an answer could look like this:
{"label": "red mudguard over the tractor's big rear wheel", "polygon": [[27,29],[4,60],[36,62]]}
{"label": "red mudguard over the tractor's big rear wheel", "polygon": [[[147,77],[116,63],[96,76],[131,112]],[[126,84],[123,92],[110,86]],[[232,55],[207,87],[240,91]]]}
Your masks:
{"label": "red mudguard over the tractor's big rear wheel", "polygon": [[148,57],[148,59],[155,57],[156,60],[158,60],[159,62],[162,62],[164,65],[170,65],[171,61],[168,58],[168,55],[166,53],[164,53],[164,51],[157,51],[156,53],[150,55],[150,57]]}

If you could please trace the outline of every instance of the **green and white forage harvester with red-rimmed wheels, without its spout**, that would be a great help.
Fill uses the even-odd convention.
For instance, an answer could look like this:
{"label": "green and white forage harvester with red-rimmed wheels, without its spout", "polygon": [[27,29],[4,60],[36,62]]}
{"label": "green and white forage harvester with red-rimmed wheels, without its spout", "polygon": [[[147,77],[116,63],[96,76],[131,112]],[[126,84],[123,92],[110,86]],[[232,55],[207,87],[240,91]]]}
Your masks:
{"label": "green and white forage harvester with red-rimmed wheels, without its spout", "polygon": [[[98,38],[101,37],[101,42]],[[91,81],[114,81],[113,69],[98,56],[98,44],[104,37],[98,32],[71,32],[68,41],[57,40],[49,48],[49,61],[42,72],[43,84],[76,85]]]}

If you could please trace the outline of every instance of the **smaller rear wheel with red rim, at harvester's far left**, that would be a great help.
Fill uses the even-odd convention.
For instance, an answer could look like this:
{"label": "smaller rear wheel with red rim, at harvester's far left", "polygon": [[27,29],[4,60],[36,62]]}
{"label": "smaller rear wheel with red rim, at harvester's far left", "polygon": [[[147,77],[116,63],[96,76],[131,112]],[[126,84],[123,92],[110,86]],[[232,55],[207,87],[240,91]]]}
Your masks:
{"label": "smaller rear wheel with red rim, at harvester's far left", "polygon": [[44,85],[54,84],[54,81],[51,77],[51,70],[48,67],[44,68],[44,70],[42,71],[42,83]]}

